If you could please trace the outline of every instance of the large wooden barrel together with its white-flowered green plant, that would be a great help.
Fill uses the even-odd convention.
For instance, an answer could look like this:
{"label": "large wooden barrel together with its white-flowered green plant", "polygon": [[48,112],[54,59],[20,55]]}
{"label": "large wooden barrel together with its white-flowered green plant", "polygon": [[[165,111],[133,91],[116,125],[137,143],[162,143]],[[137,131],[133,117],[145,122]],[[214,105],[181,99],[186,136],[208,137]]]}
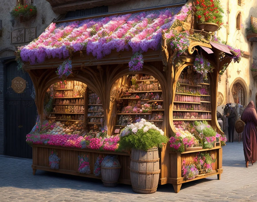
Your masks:
{"label": "large wooden barrel together with its white-flowered green plant", "polygon": [[[167,141],[164,132],[145,119],[121,131],[119,149],[132,148],[130,178],[133,191],[144,194],[156,192],[160,173],[158,147]],[[144,166],[146,164],[148,166]],[[148,176],[153,180],[146,180]]]}

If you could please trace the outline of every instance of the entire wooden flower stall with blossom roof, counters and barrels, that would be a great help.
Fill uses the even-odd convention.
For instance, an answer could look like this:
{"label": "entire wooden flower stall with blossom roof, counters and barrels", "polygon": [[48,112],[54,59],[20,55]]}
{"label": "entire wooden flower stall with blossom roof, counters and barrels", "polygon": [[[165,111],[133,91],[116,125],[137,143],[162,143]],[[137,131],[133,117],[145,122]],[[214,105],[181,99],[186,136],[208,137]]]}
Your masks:
{"label": "entire wooden flower stall with blossom roof, counters and barrels", "polygon": [[33,174],[99,178],[138,193],[220,179],[218,77],[240,52],[197,30],[193,7],[53,22],[19,48],[38,109],[27,135]]}

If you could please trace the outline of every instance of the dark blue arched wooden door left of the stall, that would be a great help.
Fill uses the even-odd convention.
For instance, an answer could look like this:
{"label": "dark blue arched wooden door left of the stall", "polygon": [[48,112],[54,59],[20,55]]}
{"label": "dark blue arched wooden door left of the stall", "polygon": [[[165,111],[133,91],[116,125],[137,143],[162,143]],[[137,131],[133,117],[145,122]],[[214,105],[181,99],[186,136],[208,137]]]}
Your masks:
{"label": "dark blue arched wooden door left of the stall", "polygon": [[[15,77],[26,81],[23,93],[11,88]],[[26,144],[26,135],[36,122],[36,105],[31,98],[33,84],[28,73],[17,70],[17,63],[11,62],[5,69],[5,155],[32,158],[32,149]]]}

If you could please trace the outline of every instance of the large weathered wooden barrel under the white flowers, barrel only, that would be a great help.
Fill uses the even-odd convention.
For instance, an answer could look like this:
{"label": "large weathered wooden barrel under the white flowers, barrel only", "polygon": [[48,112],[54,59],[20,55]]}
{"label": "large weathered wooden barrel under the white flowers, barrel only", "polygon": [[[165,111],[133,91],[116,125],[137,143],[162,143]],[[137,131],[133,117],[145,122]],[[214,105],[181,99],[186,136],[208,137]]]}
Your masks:
{"label": "large weathered wooden barrel under the white flowers, barrel only", "polygon": [[147,152],[133,148],[130,158],[130,179],[133,191],[142,194],[155,193],[161,172],[158,148],[148,149]]}

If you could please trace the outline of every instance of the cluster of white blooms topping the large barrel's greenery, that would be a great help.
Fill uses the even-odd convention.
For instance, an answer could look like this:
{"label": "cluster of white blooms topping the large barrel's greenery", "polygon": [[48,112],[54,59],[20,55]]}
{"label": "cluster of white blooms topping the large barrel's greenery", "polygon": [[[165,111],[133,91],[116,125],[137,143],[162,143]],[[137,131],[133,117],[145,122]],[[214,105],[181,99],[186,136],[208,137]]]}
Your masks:
{"label": "cluster of white blooms topping the large barrel's greenery", "polygon": [[149,129],[157,130],[161,133],[161,135],[164,135],[164,132],[156,127],[154,124],[150,123],[149,121],[146,121],[145,119],[141,119],[140,122],[132,123],[131,125],[128,125],[125,127],[125,129],[122,131],[121,136],[128,135],[130,131],[133,133],[137,133],[139,129],[142,129],[146,133]]}

